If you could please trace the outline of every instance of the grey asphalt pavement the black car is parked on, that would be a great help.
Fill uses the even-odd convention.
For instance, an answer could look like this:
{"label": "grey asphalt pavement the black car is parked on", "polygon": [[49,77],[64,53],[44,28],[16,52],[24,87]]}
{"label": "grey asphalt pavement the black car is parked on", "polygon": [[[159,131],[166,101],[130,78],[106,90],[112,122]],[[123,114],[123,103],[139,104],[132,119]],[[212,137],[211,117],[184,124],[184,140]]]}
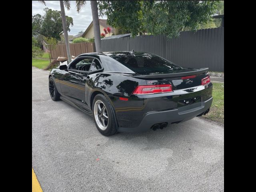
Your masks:
{"label": "grey asphalt pavement the black car is parked on", "polygon": [[224,191],[224,127],[194,118],[105,137],[51,100],[48,74],[32,67],[32,167],[44,192]]}

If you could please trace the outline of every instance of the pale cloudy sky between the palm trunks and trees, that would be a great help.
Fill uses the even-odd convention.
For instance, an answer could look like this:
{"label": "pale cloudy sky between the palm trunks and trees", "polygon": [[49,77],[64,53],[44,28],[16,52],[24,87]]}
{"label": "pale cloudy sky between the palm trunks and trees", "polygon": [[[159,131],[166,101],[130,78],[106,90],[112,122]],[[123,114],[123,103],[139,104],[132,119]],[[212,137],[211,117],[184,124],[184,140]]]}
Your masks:
{"label": "pale cloudy sky between the palm trunks and trees", "polygon": [[[38,1],[32,1],[32,15],[40,14],[44,15],[43,9],[48,7],[52,10],[60,11],[60,1],[45,1],[46,6]],[[70,1],[70,10],[65,8],[66,16],[73,18],[73,26],[70,26],[70,32],[68,35],[77,35],[80,31],[85,31],[86,28],[92,22],[92,10],[90,1],[86,1],[86,6],[84,6],[80,13],[76,12],[76,1]],[[106,19],[106,17],[99,17],[100,19]]]}

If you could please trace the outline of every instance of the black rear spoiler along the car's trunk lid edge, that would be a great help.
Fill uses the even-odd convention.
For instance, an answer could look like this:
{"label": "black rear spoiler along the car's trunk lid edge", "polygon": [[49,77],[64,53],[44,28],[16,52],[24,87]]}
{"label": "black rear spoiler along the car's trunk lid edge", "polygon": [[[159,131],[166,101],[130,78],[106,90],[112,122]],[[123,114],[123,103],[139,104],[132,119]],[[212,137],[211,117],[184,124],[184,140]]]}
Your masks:
{"label": "black rear spoiler along the car's trunk lid edge", "polygon": [[190,75],[198,75],[205,73],[209,70],[209,68],[200,68],[196,71],[188,71],[182,73],[170,73],[170,74],[156,74],[156,75],[135,75],[134,77],[140,79],[151,79],[151,78],[170,78],[170,77],[182,77],[182,76],[190,76]]}

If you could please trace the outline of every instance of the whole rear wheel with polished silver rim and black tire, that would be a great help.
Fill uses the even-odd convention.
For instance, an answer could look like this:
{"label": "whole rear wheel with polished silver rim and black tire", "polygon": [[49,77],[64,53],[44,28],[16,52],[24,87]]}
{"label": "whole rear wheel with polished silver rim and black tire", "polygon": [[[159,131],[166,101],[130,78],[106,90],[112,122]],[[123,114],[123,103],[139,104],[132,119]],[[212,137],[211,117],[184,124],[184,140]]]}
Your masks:
{"label": "whole rear wheel with polished silver rim and black tire", "polygon": [[92,104],[94,122],[98,131],[104,136],[116,133],[116,122],[112,107],[108,99],[98,94],[94,97]]}

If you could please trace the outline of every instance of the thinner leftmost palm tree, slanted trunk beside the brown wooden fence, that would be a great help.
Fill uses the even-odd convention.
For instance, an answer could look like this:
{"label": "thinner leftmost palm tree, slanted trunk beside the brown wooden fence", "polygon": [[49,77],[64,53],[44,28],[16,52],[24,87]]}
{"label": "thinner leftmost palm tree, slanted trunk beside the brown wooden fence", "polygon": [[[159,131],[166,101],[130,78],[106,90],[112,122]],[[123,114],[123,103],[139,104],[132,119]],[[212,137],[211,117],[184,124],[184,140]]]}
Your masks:
{"label": "thinner leftmost palm tree, slanted trunk beside the brown wooden fence", "polygon": [[[46,6],[45,1],[39,1],[42,4]],[[68,42],[68,30],[67,30],[67,20],[66,20],[66,14],[64,9],[64,4],[66,8],[70,8],[70,2],[69,1],[60,1],[60,12],[61,12],[61,19],[62,19],[62,26],[63,26],[63,32],[64,32],[64,38],[66,43],[66,50],[68,54],[68,62],[71,62],[71,54],[70,54],[70,48],[69,48],[69,42]]]}

